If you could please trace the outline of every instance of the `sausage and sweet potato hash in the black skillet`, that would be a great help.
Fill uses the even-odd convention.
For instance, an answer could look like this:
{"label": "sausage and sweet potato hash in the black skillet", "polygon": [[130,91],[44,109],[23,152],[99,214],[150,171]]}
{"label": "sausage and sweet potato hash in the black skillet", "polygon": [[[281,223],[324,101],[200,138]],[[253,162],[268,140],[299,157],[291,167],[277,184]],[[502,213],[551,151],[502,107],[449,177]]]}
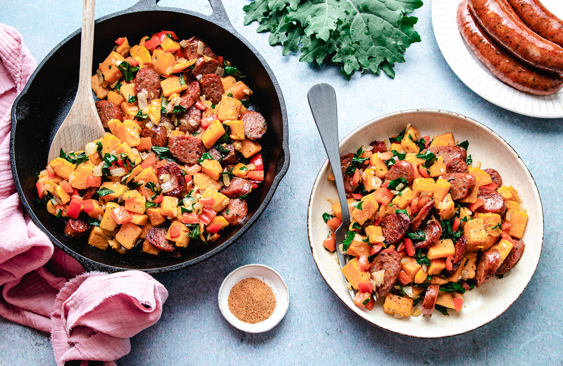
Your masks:
{"label": "sausage and sweet potato hash in the black skillet", "polygon": [[102,250],[177,256],[190,240],[216,241],[264,179],[266,121],[247,109],[244,75],[198,37],[115,43],[92,76],[107,132],[61,150],[38,174],[39,199],[66,235]]}

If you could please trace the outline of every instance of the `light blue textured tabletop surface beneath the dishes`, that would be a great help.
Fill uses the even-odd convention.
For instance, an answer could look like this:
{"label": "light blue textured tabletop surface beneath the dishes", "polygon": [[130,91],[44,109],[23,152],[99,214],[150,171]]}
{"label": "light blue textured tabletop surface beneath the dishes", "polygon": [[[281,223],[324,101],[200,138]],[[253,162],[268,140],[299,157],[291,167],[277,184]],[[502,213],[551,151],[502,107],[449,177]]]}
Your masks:
{"label": "light blue textured tabletop surface beneath the dishes", "polygon": [[[132,338],[131,353],[118,364],[561,364],[563,120],[517,115],[471,92],[437,47],[430,0],[413,14],[419,19],[415,28],[422,42],[407,50],[405,64],[396,65],[396,78],[355,75],[350,82],[336,67],[283,57],[281,47],[269,46],[268,33],[256,33],[256,22],[243,26],[242,7],[248,2],[224,3],[234,28],[265,57],[282,88],[289,119],[289,171],[260,220],[237,243],[202,264],[156,276],[170,294],[162,318]],[[80,27],[81,3],[2,0],[0,22],[14,26],[40,62]],[[98,0],[96,17],[133,3]],[[166,0],[160,5],[211,12],[205,0]],[[465,335],[409,338],[364,322],[333,295],[312,260],[306,227],[311,187],[325,160],[306,93],[320,82],[336,89],[341,137],[388,112],[436,108],[484,123],[519,153],[542,197],[545,235],[534,277],[501,317]],[[290,293],[282,322],[258,335],[231,327],[217,306],[225,276],[250,263],[276,269]],[[55,364],[46,333],[0,318],[0,334],[0,364]]]}

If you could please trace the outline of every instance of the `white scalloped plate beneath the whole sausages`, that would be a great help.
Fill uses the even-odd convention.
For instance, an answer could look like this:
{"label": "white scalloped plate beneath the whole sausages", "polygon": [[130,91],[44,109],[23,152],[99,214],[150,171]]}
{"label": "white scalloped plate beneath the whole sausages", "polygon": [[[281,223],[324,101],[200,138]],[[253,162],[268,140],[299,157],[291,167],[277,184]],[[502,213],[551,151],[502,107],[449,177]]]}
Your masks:
{"label": "white scalloped plate beneath the whole sausages", "polygon": [[[473,92],[489,102],[518,114],[539,118],[563,117],[563,90],[551,96],[521,92],[497,79],[481,64],[459,34],[455,12],[461,0],[433,0],[432,26],[436,42],[455,75]],[[542,0],[554,14],[563,17],[563,1]]]}

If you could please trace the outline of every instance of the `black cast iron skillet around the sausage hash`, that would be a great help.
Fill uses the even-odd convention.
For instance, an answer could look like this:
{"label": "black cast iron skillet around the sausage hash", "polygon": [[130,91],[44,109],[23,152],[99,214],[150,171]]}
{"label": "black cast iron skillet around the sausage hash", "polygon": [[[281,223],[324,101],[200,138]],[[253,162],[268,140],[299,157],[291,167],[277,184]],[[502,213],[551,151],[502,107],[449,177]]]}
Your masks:
{"label": "black cast iron skillet around the sausage hash", "polygon": [[48,214],[37,201],[37,173],[47,165],[47,154],[59,125],[74,100],[78,87],[80,29],[69,35],[37,67],[12,107],[10,161],[12,175],[26,211],[50,240],[77,259],[87,270],[118,272],[138,269],[162,273],[186,268],[217,254],[240,238],[266,208],[289,166],[288,124],[285,104],[278,82],[263,57],[229,22],[220,0],[209,0],[213,13],[204,16],[178,8],[157,6],[159,0],[140,0],[127,10],[96,20],[92,74],[115,45],[118,37],[136,44],[141,37],[160,30],[173,30],[180,38],[200,37],[217,55],[238,67],[244,82],[254,92],[251,109],[260,111],[268,121],[262,137],[262,156],[266,175],[263,184],[248,199],[248,216],[243,227],[222,234],[208,245],[194,245],[181,257],[153,256],[129,251],[122,256],[114,250],[99,250],[87,244],[87,237],[65,236],[64,222]]}

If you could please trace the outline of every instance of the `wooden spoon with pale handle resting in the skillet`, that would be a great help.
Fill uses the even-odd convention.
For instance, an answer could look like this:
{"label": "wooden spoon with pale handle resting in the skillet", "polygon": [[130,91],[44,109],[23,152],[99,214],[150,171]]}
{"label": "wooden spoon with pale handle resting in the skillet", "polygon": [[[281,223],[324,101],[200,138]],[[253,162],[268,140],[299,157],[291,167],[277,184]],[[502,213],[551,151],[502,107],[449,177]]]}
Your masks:
{"label": "wooden spoon with pale handle resting in the skillet", "polygon": [[64,152],[84,150],[88,142],[105,133],[92,97],[92,49],[94,44],[95,0],[84,0],[82,7],[82,38],[80,44],[80,71],[78,91],[69,114],[62,121],[51,142],[48,161]]}

